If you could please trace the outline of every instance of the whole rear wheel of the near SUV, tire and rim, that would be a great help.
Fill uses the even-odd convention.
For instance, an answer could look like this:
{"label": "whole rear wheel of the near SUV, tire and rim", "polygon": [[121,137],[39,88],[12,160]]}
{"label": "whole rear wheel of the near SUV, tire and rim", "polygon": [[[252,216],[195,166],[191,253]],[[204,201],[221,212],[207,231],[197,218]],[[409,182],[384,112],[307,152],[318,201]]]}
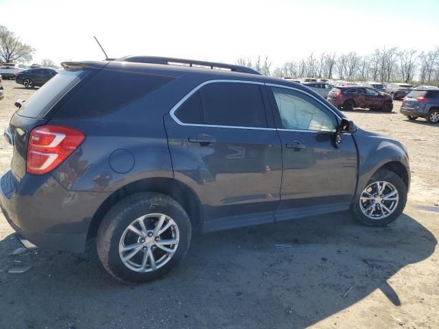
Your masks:
{"label": "whole rear wheel of the near SUV, tire and rim", "polygon": [[[161,228],[166,230],[157,234],[154,225],[162,217]],[[165,240],[174,243],[165,244]],[[190,243],[191,221],[187,213],[174,199],[160,193],[137,193],[121,199],[107,212],[97,232],[97,254],[102,265],[114,278],[129,284],[171,273],[185,258]],[[123,247],[128,247],[127,251]],[[129,258],[131,253],[134,255]],[[124,263],[122,257],[128,260]]]}

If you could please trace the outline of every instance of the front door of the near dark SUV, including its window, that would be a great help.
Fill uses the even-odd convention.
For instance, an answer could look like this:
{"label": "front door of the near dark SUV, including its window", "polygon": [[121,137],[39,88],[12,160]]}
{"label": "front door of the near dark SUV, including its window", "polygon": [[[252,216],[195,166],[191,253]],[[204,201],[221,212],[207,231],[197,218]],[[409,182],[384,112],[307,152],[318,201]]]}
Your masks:
{"label": "front door of the near dark SUV, including its window", "polygon": [[340,118],[324,103],[294,88],[269,86],[282,143],[281,204],[276,220],[347,209],[357,183],[351,134],[335,145]]}

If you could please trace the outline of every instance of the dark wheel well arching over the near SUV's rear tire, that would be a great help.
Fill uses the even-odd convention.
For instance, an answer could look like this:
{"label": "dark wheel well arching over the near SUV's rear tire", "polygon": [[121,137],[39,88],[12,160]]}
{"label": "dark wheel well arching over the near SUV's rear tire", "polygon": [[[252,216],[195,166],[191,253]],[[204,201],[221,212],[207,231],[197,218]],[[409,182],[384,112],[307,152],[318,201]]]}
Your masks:
{"label": "dark wheel well arching over the near SUV's rear tire", "polygon": [[87,239],[96,236],[102,219],[112,206],[124,197],[139,192],[156,192],[171,197],[185,209],[189,219],[191,219],[193,229],[200,228],[202,223],[201,202],[189,186],[172,178],[147,178],[123,186],[107,197],[91,219]]}

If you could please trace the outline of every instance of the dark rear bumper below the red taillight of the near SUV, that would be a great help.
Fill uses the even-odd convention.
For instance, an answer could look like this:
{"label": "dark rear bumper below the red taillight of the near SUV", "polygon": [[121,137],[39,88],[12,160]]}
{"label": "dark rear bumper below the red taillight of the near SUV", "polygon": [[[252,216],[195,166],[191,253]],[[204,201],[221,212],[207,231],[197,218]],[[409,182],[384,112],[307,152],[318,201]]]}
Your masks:
{"label": "dark rear bumper below the red taillight of the near SUV", "polygon": [[45,249],[84,252],[88,227],[108,193],[67,191],[51,175],[11,171],[0,178],[0,206],[12,228]]}

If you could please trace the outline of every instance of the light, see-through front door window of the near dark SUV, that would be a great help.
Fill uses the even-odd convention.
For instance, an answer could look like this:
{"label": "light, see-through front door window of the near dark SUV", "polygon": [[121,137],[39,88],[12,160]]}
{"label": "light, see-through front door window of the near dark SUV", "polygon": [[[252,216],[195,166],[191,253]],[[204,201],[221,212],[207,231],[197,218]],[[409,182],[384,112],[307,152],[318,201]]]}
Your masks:
{"label": "light, see-through front door window of the near dark SUV", "polygon": [[315,99],[287,88],[272,87],[282,128],[335,132],[337,119]]}

